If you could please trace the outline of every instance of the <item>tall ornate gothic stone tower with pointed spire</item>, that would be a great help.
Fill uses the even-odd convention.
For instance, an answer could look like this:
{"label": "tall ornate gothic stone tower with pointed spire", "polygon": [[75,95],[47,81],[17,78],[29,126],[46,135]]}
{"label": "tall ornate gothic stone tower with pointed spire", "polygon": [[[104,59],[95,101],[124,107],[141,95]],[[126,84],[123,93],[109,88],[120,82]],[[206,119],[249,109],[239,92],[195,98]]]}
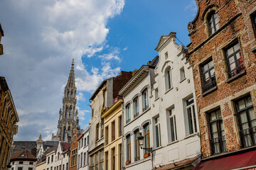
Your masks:
{"label": "tall ornate gothic stone tower with pointed spire", "polygon": [[78,110],[75,111],[76,91],[73,59],[68,83],[65,86],[63,108],[59,111],[58,132],[57,135],[52,135],[52,141],[70,142],[73,137],[75,127],[79,122]]}

